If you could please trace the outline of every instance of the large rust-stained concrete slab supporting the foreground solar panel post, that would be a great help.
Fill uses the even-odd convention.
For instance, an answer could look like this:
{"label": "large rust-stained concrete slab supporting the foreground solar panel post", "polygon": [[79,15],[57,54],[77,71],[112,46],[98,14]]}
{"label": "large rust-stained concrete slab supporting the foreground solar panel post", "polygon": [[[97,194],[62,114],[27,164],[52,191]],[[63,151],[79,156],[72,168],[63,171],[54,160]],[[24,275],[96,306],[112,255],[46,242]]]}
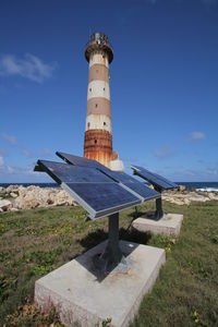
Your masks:
{"label": "large rust-stained concrete slab supporting the foreground solar panel post", "polygon": [[44,312],[55,305],[65,326],[102,326],[109,318],[110,326],[124,327],[133,320],[165,264],[165,250],[120,241],[125,263],[99,278],[93,257],[106,242],[36,281],[35,301]]}

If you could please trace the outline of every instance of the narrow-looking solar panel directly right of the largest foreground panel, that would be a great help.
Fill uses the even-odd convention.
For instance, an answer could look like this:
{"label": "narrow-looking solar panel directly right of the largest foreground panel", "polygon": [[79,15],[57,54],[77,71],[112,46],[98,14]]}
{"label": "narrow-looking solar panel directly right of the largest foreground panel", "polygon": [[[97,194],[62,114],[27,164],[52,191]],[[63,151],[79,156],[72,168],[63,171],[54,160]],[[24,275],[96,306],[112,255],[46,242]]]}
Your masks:
{"label": "narrow-looking solar panel directly right of the largest foreground panel", "polygon": [[108,177],[112,178],[114,181],[119,182],[128,191],[132,192],[136,196],[140,195],[143,202],[160,197],[160,193],[138,182],[125,172],[117,172],[107,168],[100,168],[100,170],[104,171]]}

